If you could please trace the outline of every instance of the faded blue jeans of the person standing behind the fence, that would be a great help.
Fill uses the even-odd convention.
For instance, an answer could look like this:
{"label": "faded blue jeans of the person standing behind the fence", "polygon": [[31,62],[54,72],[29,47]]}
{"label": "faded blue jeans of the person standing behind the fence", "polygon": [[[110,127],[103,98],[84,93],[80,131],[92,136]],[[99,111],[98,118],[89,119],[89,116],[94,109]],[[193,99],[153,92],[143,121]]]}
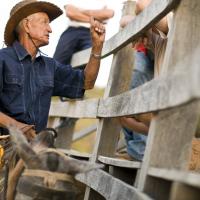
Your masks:
{"label": "faded blue jeans of the person standing behind the fence", "polygon": [[[150,81],[154,77],[154,64],[143,52],[137,52],[134,63],[134,70],[131,77],[130,89]],[[144,157],[147,136],[122,127],[127,144],[126,152],[133,158],[142,161]]]}

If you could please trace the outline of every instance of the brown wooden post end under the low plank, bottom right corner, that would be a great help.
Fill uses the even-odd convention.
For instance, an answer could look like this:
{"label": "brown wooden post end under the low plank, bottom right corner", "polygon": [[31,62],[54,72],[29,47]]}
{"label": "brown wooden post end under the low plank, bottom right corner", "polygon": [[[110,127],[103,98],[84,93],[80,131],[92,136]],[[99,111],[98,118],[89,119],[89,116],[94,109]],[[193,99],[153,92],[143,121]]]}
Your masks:
{"label": "brown wooden post end under the low plank, bottom right corner", "polygon": [[199,200],[200,190],[181,183],[173,183],[169,200]]}

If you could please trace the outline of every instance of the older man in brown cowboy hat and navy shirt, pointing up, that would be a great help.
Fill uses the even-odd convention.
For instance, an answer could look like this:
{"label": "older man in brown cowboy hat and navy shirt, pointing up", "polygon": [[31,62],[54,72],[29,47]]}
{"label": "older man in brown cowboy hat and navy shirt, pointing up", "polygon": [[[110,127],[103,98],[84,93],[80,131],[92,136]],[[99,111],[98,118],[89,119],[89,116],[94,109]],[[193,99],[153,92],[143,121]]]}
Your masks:
{"label": "older man in brown cowboy hat and navy shirt, pointing up", "polygon": [[[49,23],[62,14],[54,4],[25,0],[13,7],[0,50],[0,127],[17,125],[28,137],[47,125],[51,96],[82,98],[98,75],[105,28],[90,15],[92,53],[85,70],[74,70],[41,55],[49,44]],[[35,128],[35,130],[34,130]]]}

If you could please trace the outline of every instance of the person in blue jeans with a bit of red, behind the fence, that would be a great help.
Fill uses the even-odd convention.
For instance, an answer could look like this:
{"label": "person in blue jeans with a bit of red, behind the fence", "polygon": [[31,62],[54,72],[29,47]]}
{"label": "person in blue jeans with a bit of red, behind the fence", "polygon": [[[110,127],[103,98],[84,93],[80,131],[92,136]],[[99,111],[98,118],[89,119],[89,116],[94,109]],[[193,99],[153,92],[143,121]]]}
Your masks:
{"label": "person in blue jeans with a bit of red, behind the fence", "polygon": [[[127,15],[120,20],[120,26],[125,27],[133,18],[132,15]],[[154,77],[154,54],[151,50],[146,49],[142,44],[138,47],[134,69],[131,77],[131,84],[129,90],[132,90],[140,85],[150,81]],[[129,118],[132,120],[131,124],[138,123],[135,118]],[[144,152],[146,148],[147,136],[132,131],[126,127],[121,127],[125,141],[126,150],[117,152],[115,158],[132,160],[132,161],[142,161],[144,157]],[[145,127],[145,130],[148,130]]]}

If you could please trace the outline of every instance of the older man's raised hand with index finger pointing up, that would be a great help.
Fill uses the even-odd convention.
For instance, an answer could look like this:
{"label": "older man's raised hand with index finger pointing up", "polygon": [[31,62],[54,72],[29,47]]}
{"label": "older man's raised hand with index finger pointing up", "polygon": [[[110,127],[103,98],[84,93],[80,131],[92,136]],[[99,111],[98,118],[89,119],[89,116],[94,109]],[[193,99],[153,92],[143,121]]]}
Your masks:
{"label": "older man's raised hand with index finger pointing up", "polygon": [[92,12],[90,12],[90,34],[93,45],[102,46],[105,40],[105,27],[98,21],[94,21]]}

